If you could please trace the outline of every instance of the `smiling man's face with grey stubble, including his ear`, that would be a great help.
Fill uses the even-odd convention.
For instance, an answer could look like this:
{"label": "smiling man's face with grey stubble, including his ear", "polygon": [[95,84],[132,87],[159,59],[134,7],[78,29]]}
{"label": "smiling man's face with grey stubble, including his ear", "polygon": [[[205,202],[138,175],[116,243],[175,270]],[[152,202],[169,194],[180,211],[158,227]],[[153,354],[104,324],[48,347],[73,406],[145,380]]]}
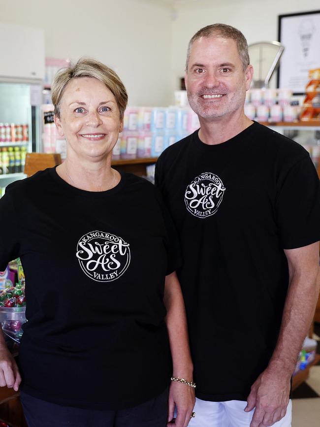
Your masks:
{"label": "smiling man's face with grey stubble, including his ear", "polygon": [[185,81],[190,106],[204,119],[243,111],[253,68],[243,71],[235,40],[201,37],[192,44]]}

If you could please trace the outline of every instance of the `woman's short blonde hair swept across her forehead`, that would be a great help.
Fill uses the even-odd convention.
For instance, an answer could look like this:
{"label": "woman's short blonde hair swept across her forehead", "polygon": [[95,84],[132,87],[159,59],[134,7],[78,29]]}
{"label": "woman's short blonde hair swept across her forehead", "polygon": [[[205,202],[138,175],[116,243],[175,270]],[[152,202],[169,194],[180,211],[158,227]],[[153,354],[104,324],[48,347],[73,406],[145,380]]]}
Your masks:
{"label": "woman's short blonde hair swept across her forehead", "polygon": [[120,111],[120,120],[123,119],[128,103],[125,85],[113,69],[92,58],[80,58],[74,66],[63,68],[55,75],[51,85],[51,97],[57,117],[60,118],[61,101],[66,85],[70,80],[78,77],[93,77],[103,83],[115,97]]}

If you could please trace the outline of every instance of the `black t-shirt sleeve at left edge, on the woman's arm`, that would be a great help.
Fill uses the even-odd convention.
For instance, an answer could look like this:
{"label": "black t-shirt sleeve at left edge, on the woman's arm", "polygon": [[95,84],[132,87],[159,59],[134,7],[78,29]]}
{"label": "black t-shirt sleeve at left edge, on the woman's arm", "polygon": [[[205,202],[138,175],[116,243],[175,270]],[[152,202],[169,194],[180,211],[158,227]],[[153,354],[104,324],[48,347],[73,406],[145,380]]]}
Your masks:
{"label": "black t-shirt sleeve at left edge, on the woman's arm", "polygon": [[0,198],[0,271],[19,257],[18,222],[10,195]]}

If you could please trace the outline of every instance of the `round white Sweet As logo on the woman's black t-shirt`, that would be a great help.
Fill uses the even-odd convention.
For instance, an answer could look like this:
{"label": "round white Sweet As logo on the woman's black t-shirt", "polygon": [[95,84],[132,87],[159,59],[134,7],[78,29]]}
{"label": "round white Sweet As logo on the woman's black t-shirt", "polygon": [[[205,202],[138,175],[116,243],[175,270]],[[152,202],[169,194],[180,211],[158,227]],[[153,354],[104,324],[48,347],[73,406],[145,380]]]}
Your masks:
{"label": "round white Sweet As logo on the woman's black t-shirt", "polygon": [[90,231],[78,241],[76,256],[82,270],[97,282],[118,279],[130,263],[129,244],[103,231]]}

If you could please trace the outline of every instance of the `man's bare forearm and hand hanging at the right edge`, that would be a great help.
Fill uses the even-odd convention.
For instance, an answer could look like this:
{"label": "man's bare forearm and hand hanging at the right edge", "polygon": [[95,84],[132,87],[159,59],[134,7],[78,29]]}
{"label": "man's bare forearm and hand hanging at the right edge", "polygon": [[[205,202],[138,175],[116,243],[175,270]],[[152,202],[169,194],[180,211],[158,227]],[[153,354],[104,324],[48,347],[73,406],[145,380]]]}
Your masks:
{"label": "man's bare forearm and hand hanging at the right edge", "polygon": [[[289,288],[280,333],[268,367],[248,396],[246,412],[256,407],[250,427],[272,426],[286,414],[290,378],[312,322],[320,288],[319,242],[286,249]],[[318,276],[318,280],[317,280]]]}

